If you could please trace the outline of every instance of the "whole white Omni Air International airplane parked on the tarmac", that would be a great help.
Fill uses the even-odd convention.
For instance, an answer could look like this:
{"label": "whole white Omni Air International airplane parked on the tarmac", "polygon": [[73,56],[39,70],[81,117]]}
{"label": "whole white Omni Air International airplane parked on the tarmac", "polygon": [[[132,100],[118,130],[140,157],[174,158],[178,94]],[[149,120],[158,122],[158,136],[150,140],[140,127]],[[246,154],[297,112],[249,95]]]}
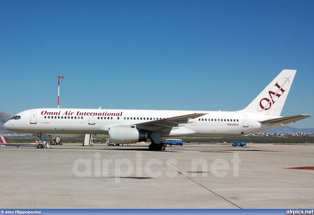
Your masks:
{"label": "whole white Omni Air International airplane parked on the tarmac", "polygon": [[238,136],[310,117],[280,116],[295,73],[296,70],[283,70],[246,108],[238,111],[38,108],[18,113],[3,127],[12,132],[56,137],[93,134],[109,137],[116,144],[149,139],[150,150],[165,150],[162,138]]}

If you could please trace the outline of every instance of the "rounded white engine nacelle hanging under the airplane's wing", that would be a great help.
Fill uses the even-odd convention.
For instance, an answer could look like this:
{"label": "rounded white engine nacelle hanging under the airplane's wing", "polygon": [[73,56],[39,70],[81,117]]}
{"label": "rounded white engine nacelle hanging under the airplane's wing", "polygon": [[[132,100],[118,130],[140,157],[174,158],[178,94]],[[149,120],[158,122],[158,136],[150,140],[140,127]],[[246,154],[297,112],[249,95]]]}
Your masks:
{"label": "rounded white engine nacelle hanging under the airplane's wing", "polygon": [[133,127],[110,127],[109,141],[112,143],[134,143],[147,141],[147,131],[138,130]]}

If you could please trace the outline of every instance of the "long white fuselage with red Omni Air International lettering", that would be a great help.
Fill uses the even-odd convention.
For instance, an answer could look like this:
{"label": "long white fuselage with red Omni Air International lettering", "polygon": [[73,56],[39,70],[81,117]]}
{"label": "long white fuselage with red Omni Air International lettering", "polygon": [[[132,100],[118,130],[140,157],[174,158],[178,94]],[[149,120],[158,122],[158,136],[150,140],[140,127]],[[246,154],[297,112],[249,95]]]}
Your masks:
{"label": "long white fuselage with red Omni Air International lettering", "polygon": [[13,132],[43,133],[57,137],[84,137],[84,134],[108,137],[108,129],[113,126],[137,125],[193,113],[206,115],[173,127],[170,132],[160,132],[160,137],[227,137],[286,126],[258,122],[278,116],[241,111],[39,108],[18,113],[19,119],[11,119],[3,127]]}

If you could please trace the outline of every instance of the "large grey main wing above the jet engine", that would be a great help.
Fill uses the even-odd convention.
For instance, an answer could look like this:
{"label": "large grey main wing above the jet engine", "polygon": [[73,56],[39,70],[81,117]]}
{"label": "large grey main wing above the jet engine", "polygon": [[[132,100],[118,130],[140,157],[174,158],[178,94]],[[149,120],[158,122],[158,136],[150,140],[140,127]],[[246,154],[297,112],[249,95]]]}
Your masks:
{"label": "large grey main wing above the jet engine", "polygon": [[136,127],[149,131],[168,131],[171,130],[173,127],[180,127],[184,126],[184,124],[195,122],[193,119],[204,115],[206,115],[206,113],[194,113],[183,116],[174,116],[155,121],[141,122],[136,124]]}

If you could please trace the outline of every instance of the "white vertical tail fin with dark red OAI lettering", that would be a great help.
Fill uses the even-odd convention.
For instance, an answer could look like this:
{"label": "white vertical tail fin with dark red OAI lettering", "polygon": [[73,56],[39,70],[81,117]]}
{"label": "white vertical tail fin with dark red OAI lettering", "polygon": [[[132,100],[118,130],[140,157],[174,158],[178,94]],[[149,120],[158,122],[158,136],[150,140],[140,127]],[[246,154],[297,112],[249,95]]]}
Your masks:
{"label": "white vertical tail fin with dark red OAI lettering", "polygon": [[280,116],[296,70],[283,70],[242,112]]}

